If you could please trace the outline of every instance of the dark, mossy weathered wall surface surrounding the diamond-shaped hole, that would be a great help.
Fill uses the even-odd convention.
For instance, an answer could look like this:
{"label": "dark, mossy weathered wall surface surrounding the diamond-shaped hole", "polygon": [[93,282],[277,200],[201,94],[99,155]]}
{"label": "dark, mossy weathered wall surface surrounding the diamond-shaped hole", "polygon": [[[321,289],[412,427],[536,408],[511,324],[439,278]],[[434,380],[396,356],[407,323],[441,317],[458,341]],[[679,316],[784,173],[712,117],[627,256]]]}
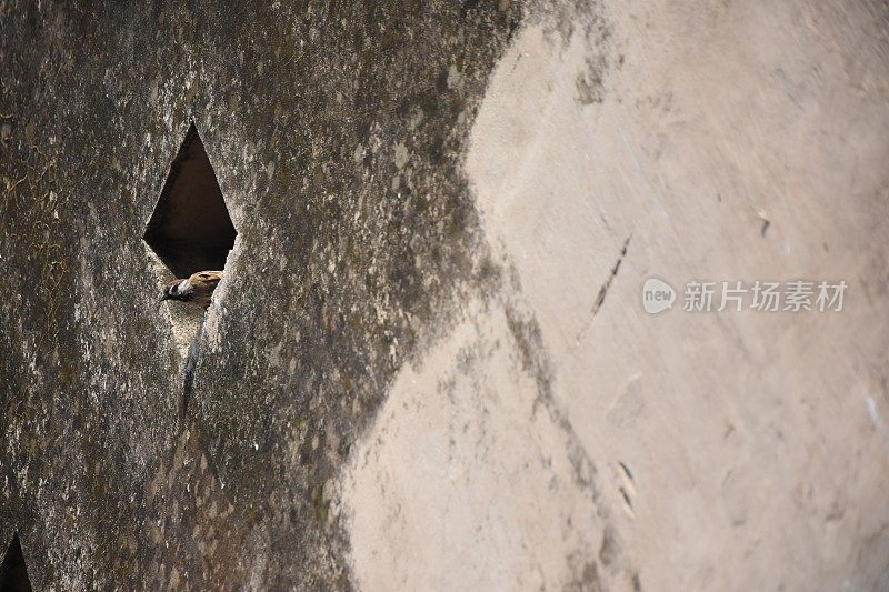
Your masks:
{"label": "dark, mossy weathered wall surface surrounding the diamond-shaped hole", "polygon": [[[519,8],[2,10],[0,534],[41,586],[346,585],[330,483],[496,281],[458,165]],[[182,422],[141,235],[192,118],[240,234]]]}

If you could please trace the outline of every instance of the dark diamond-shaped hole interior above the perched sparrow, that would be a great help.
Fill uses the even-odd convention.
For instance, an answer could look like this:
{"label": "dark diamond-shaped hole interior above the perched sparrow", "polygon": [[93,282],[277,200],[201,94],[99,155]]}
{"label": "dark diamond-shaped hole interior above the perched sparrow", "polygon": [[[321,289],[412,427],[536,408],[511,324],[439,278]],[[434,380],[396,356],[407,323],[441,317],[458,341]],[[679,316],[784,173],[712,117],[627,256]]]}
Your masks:
{"label": "dark diamond-shaped hole interior above the perched sparrow", "polygon": [[221,270],[237,235],[194,123],[142,237],[177,278]]}

